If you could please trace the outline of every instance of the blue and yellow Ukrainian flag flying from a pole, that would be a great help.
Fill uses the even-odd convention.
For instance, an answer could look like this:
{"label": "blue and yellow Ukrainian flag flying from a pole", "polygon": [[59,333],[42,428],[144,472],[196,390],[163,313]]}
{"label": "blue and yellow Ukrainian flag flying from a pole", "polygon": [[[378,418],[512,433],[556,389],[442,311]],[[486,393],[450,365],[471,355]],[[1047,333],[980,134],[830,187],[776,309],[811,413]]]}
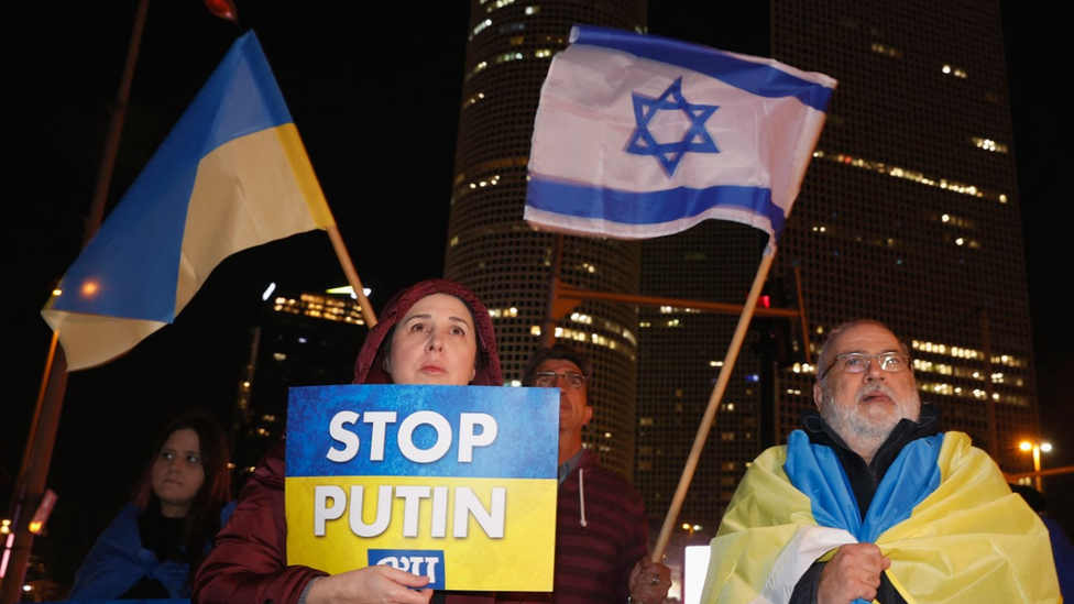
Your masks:
{"label": "blue and yellow Ukrainian flag flying from a pole", "polygon": [[172,322],[227,256],[335,223],[256,35],[209,77],[42,310],[69,370]]}

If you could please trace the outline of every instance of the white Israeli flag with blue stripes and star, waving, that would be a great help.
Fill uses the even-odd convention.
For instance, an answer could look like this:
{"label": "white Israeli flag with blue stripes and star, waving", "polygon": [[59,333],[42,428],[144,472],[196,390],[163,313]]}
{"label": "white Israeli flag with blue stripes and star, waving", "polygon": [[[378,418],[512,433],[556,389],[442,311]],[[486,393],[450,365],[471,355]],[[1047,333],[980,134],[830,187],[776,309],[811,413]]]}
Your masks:
{"label": "white Israeli flag with blue stripes and star, waving", "polygon": [[733,220],[779,237],[836,81],[772,59],[574,26],[541,88],[525,219],[615,239]]}

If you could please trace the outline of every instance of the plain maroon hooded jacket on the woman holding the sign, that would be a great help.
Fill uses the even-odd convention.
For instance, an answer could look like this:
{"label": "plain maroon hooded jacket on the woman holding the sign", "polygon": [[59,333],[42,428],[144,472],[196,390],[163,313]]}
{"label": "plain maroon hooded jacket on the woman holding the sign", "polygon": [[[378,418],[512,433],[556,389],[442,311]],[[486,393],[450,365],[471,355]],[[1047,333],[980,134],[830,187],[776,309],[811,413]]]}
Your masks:
{"label": "plain maroon hooded jacket on the woman holding the sign", "polygon": [[[447,279],[429,279],[396,294],[370,330],[354,364],[355,384],[391,384],[384,371],[383,343],[415,303],[431,294],[460,298],[473,312],[478,340],[476,374],[472,385],[501,386],[496,339],[489,310],[465,287]],[[328,573],[287,565],[287,519],[284,514],[284,439],[265,453],[239,496],[231,520],[198,570],[194,601],[213,604],[250,602],[295,604],[306,584]]]}

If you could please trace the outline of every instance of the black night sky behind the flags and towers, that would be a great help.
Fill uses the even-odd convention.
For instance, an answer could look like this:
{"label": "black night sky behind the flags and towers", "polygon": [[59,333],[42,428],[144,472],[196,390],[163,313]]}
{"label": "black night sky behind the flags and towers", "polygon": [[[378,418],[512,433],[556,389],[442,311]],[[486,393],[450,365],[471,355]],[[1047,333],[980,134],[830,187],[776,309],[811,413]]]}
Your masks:
{"label": "black night sky behind the flags and towers", "polygon": [[[241,1],[241,0],[240,0]],[[257,0],[239,24],[197,0],[151,3],[112,180],[110,206],[139,174],[231,43],[253,29],[303,136],[354,264],[380,308],[396,289],[442,272],[468,2],[427,2],[357,18],[350,3]],[[653,33],[767,55],[764,7],[650,0]],[[695,8],[698,4],[701,8]],[[746,3],[744,3],[746,4]],[[1005,41],[1018,154],[1045,466],[1074,464],[1070,263],[1057,210],[1065,205],[1070,140],[1049,74],[1065,73],[1059,20],[1006,1]],[[48,290],[77,255],[92,196],[109,103],[116,98],[133,1],[8,2],[2,19],[8,107],[3,263],[14,312],[0,395],[0,505],[18,472],[51,332]],[[319,12],[317,9],[322,9]],[[401,18],[404,17],[404,18]],[[837,92],[836,92],[837,94]],[[1065,233],[1064,233],[1065,234]],[[405,245],[401,245],[405,242]],[[344,278],[321,232],[244,252],[221,264],[175,325],[122,359],[72,375],[50,484],[50,526],[72,564],[129,496],[172,416],[205,407],[229,418],[261,293],[324,288]],[[1066,439],[1064,442],[1063,439]],[[1070,477],[1061,479],[1070,481]],[[1045,483],[1048,484],[1048,483]],[[1070,527],[1067,527],[1070,528]]]}

